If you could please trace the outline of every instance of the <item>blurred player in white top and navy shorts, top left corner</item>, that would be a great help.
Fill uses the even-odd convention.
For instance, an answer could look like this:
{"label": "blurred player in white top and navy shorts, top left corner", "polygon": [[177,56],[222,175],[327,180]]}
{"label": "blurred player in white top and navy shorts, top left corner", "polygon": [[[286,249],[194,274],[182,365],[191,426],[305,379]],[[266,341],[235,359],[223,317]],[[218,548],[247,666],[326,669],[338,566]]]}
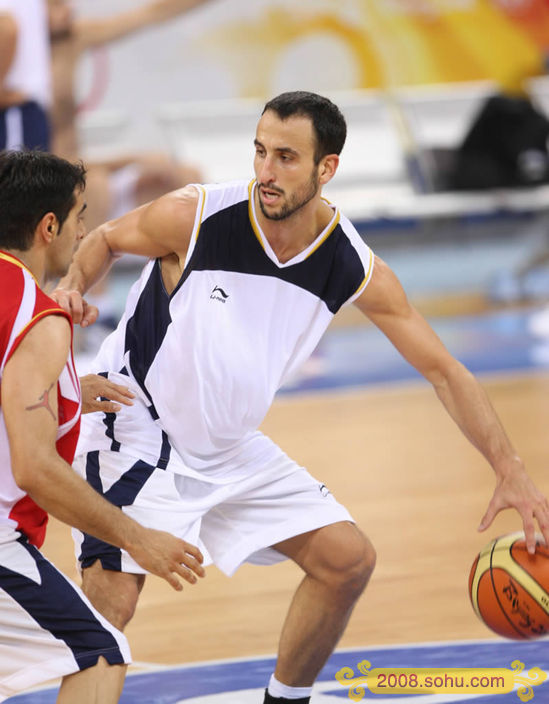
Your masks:
{"label": "blurred player in white top and navy shorts, top left corner", "polygon": [[48,149],[50,104],[46,0],[0,0],[0,149]]}

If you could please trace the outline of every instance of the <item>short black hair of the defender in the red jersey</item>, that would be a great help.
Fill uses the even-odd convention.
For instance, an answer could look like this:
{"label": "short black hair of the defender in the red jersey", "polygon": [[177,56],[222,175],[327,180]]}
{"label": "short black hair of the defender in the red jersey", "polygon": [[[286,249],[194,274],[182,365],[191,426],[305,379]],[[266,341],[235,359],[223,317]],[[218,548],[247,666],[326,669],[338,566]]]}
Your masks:
{"label": "short black hair of the defender in the red jersey", "polygon": [[86,187],[82,163],[41,151],[0,151],[0,247],[26,251],[46,213],[59,230]]}

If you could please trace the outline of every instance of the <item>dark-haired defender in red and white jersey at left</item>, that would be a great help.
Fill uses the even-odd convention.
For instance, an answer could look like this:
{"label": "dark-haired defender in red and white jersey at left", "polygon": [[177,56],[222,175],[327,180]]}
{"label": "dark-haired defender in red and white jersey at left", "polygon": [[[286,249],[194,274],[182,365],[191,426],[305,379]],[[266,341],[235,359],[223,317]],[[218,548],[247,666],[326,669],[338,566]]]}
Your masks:
{"label": "dark-haired defender in red and white jersey at left", "polygon": [[181,589],[199,551],[144,529],[70,467],[80,424],[72,323],[39,287],[63,274],[82,224],[84,169],[40,152],[0,152],[0,701],[63,677],[58,702],[114,704],[125,637],[38,548],[47,512],[126,547]]}

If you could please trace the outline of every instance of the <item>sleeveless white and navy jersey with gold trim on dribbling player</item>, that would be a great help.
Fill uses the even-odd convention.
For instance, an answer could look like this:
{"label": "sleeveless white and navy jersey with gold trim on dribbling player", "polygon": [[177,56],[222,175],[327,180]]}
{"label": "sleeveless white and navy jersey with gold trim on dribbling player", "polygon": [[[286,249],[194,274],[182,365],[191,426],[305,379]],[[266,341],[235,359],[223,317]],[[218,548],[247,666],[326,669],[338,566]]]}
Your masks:
{"label": "sleeveless white and navy jersey with gold trim on dribbling player", "polygon": [[[334,314],[362,293],[373,253],[333,208],[315,241],[280,263],[254,211],[254,181],[197,188],[192,241],[175,290],[167,294],[160,261],[150,261],[94,363],[109,377],[133,379],[142,403],[103,421],[86,419],[81,450],[124,445],[154,461],[155,452],[166,460],[174,447],[181,471],[212,476],[253,459],[253,439],[276,391]],[[144,431],[147,414],[161,435]],[[98,444],[90,424],[108,443]]]}

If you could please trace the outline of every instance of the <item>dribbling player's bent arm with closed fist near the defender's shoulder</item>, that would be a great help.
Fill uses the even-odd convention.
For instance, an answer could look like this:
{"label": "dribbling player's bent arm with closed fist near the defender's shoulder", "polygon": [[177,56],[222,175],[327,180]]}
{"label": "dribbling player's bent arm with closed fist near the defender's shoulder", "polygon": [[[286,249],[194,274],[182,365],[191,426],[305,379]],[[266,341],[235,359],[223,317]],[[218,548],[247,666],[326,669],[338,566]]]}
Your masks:
{"label": "dribbling player's bent arm with closed fist near the defender's shoulder", "polygon": [[51,297],[83,327],[95,322],[97,309],[83,295],[122,254],[185,261],[194,227],[198,191],[180,188],[92,230],[82,240],[67,274]]}

